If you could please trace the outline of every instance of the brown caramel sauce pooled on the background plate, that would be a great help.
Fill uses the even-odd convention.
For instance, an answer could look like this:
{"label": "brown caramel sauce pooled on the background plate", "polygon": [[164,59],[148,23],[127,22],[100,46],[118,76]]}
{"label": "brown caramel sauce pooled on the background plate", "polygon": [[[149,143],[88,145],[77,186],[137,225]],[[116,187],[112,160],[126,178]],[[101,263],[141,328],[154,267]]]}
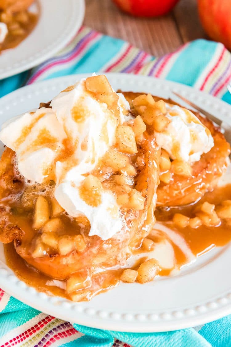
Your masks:
{"label": "brown caramel sauce pooled on the background plate", "polygon": [[36,24],[38,23],[39,15],[29,11],[26,12],[28,15],[27,22],[20,23],[20,27],[23,29],[23,32],[21,34],[13,34],[9,31],[5,37],[5,40],[0,44],[0,54],[2,51],[18,46],[34,30]]}

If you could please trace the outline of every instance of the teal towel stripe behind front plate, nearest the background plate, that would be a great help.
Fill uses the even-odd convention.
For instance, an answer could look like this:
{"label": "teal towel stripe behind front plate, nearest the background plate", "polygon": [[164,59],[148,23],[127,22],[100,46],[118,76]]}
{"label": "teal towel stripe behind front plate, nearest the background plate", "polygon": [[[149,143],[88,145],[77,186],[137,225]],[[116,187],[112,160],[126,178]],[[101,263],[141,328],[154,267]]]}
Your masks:
{"label": "teal towel stripe behind front plate, nearest the background plate", "polygon": [[73,75],[79,73],[93,73],[99,71],[108,61],[110,61],[122,49],[123,40],[112,39],[109,36],[102,36],[100,40],[95,42],[90,49],[75,62],[73,66],[62,69],[47,76],[45,79]]}

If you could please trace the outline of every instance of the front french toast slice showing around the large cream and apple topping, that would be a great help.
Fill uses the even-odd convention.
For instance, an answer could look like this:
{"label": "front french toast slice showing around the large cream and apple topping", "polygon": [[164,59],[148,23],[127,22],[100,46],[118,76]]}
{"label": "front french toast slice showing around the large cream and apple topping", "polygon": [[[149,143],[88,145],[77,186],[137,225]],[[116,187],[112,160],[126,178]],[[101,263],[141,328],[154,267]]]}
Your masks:
{"label": "front french toast slice showing around the large cream and apple topping", "polygon": [[[108,240],[102,240],[98,236],[88,235],[90,225],[86,219],[73,220],[63,211],[59,215],[62,226],[56,230],[57,237],[65,235],[71,238],[73,234],[81,235],[85,246],[79,247],[79,251],[74,249],[65,255],[60,255],[48,247],[44,256],[39,257],[33,254],[32,249],[35,249],[42,231],[33,228],[33,208],[30,206],[23,208],[20,203],[24,191],[23,177],[21,180],[18,178],[16,180],[15,153],[6,148],[0,160],[0,241],[7,243],[14,240],[17,253],[29,265],[54,279],[66,279],[78,271],[86,271],[90,275],[96,268],[124,265],[130,248],[139,246],[148,233],[147,225],[142,228],[144,223],[151,227],[154,222],[153,211],[156,199],[153,199],[153,196],[156,195],[159,179],[160,151],[153,146],[153,143],[153,135],[145,132],[137,153],[138,156],[142,155],[144,164],[140,168],[137,167],[137,175],[134,179],[134,188],[142,192],[145,197],[144,209],[123,211],[126,221],[125,229]],[[36,199],[39,194],[36,189],[34,194]],[[44,196],[49,200],[46,195]],[[36,247],[40,247],[39,243]]]}

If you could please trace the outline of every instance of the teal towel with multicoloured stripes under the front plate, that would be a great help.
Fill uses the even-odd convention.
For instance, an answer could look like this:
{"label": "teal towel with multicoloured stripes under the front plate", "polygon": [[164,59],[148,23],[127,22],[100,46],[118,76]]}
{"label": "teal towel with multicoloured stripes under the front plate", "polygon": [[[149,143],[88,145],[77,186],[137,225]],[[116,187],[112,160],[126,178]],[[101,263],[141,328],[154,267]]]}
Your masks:
{"label": "teal towel with multicoloured stripes under the front plate", "polygon": [[[196,40],[160,58],[127,42],[82,27],[53,58],[0,81],[0,96],[44,79],[97,71],[165,78],[194,86],[231,104],[231,54],[221,43]],[[1,287],[1,278],[0,278]],[[122,333],[70,324],[38,312],[0,289],[0,346],[231,346],[231,315],[203,326],[165,333]],[[126,342],[122,342],[126,341]]]}

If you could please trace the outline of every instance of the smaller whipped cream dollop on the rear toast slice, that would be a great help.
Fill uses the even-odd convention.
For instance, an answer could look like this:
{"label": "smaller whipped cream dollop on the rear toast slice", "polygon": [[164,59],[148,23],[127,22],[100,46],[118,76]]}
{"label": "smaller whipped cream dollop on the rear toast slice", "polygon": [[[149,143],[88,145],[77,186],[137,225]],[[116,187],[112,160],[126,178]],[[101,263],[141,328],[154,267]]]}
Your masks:
{"label": "smaller whipped cream dollop on the rear toast slice", "polygon": [[199,161],[203,153],[214,146],[213,137],[202,122],[189,110],[166,103],[169,124],[155,132],[157,145],[165,149],[171,159],[188,163]]}

